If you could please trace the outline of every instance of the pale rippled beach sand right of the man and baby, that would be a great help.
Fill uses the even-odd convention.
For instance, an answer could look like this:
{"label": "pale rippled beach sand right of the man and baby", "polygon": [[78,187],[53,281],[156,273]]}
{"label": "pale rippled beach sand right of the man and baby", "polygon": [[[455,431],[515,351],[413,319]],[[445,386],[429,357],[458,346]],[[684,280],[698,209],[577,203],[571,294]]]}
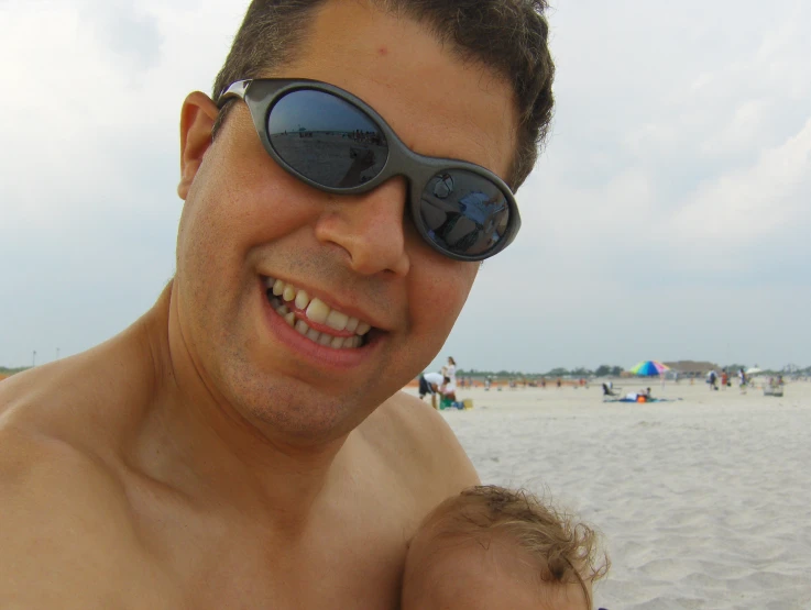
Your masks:
{"label": "pale rippled beach sand right of the man and baby", "polygon": [[472,389],[472,410],[442,413],[483,483],[551,496],[604,533],[595,608],[811,609],[811,384],[782,398],[650,385],[683,400]]}

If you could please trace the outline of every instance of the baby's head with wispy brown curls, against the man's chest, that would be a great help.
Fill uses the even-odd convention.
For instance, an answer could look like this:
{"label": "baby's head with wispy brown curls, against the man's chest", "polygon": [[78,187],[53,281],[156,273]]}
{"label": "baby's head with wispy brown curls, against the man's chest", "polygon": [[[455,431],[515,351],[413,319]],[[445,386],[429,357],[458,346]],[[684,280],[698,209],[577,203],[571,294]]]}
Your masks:
{"label": "baby's head with wispy brown curls, against the man's chest", "polygon": [[439,504],[412,540],[402,610],[587,610],[596,534],[524,491],[482,486]]}

